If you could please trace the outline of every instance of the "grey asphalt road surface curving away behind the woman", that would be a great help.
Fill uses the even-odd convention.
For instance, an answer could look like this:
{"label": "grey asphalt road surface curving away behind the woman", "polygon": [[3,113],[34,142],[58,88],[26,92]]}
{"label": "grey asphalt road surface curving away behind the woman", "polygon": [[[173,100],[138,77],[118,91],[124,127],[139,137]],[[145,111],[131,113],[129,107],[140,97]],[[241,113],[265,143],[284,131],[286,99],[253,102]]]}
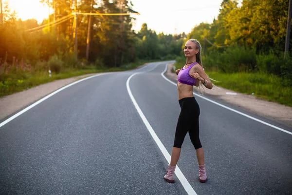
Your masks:
{"label": "grey asphalt road surface curving away behind the woman", "polygon": [[0,194],[291,195],[292,135],[198,96],[208,181],[198,181],[188,135],[184,179],[164,181],[180,113],[177,88],[161,75],[167,63],[86,79],[0,125]]}

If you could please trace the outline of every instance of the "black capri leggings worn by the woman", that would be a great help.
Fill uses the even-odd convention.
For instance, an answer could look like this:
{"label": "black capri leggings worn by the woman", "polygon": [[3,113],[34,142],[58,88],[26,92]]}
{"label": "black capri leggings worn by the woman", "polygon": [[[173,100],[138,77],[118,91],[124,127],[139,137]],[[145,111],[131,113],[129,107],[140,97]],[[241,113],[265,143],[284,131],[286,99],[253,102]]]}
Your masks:
{"label": "black capri leggings worn by the woman", "polygon": [[178,119],[173,147],[182,148],[183,140],[187,132],[195,149],[202,147],[199,138],[200,107],[194,97],[179,100],[181,114]]}

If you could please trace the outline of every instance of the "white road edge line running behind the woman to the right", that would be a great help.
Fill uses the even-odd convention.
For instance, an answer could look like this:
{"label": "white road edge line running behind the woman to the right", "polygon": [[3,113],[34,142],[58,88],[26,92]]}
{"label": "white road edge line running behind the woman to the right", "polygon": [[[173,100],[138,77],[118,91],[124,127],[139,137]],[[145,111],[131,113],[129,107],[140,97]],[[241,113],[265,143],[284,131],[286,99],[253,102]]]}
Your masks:
{"label": "white road edge line running behind the woman to the right", "polygon": [[[165,73],[166,70],[167,70],[167,66],[168,66],[168,64],[166,64],[165,69],[164,69],[164,72],[161,73],[161,76],[162,76],[164,79],[166,79],[167,81],[169,81],[170,83],[172,83],[172,84],[174,84],[175,86],[177,86],[176,83],[174,83],[173,81],[169,80],[168,78],[166,78],[166,77],[164,76],[164,73]],[[251,116],[249,116],[249,115],[247,115],[247,114],[244,114],[244,113],[242,113],[242,112],[239,112],[239,111],[237,111],[237,110],[234,110],[234,109],[232,109],[232,108],[229,108],[229,107],[227,107],[227,106],[224,106],[223,104],[220,104],[220,103],[218,103],[218,102],[216,102],[216,101],[213,101],[213,100],[211,100],[211,99],[208,99],[208,98],[202,97],[202,96],[200,96],[200,95],[198,95],[198,94],[195,94],[194,92],[193,92],[193,94],[194,94],[195,96],[197,96],[197,97],[203,98],[203,99],[205,99],[205,100],[207,100],[207,101],[210,101],[210,102],[212,102],[212,103],[214,103],[214,104],[217,104],[217,105],[219,105],[219,106],[221,106],[221,107],[223,107],[223,108],[226,108],[226,109],[228,109],[228,110],[231,110],[231,111],[233,111],[233,112],[235,112],[235,113],[237,113],[237,114],[239,114],[239,115],[242,115],[242,116],[244,116],[244,117],[251,118],[251,119],[253,119],[253,120],[256,120],[257,122],[260,122],[260,123],[262,123],[262,124],[265,124],[265,125],[268,125],[268,126],[270,126],[270,127],[273,127],[274,129],[277,129],[277,130],[280,130],[280,131],[282,131],[282,132],[285,132],[285,133],[287,133],[287,134],[292,135],[292,132],[290,132],[290,131],[287,131],[287,130],[282,129],[282,128],[277,127],[277,126],[274,126],[274,125],[272,125],[272,124],[270,124],[270,123],[267,123],[267,122],[265,122],[265,121],[262,121],[262,120],[260,120],[260,119],[255,118],[255,117],[251,117]]]}

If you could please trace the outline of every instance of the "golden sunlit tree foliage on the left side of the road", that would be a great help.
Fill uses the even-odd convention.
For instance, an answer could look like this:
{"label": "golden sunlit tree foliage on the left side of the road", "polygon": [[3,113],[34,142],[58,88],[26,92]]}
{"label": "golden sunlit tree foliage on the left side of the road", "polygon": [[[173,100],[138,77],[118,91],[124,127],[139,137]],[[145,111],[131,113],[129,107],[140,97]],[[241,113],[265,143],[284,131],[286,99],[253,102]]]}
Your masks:
{"label": "golden sunlit tree foliage on the left side of the road", "polygon": [[[59,13],[67,16],[74,11],[73,0],[40,0]],[[79,12],[97,13],[133,13],[130,1],[117,0],[98,1],[82,0],[77,4]],[[121,10],[120,3],[124,3]],[[14,58],[23,59],[30,63],[35,71],[52,66],[56,73],[62,68],[84,68],[95,63],[96,59],[103,61],[106,68],[120,67],[123,63],[133,62],[137,59],[173,59],[181,53],[181,45],[186,35],[157,35],[155,31],[143,24],[141,31],[131,30],[134,19],[131,16],[102,16],[92,17],[89,58],[87,59],[87,42],[89,16],[78,15],[78,59],[86,59],[85,63],[78,62],[74,54],[73,19],[68,18],[55,26],[44,27],[40,30],[31,30],[39,26],[36,20],[16,20],[15,14],[9,11],[8,5],[4,9],[4,24],[0,26],[0,59],[12,64]],[[40,25],[46,25],[54,20],[43,20]],[[57,55],[58,58],[55,56]],[[52,59],[53,58],[53,59]],[[64,63],[62,64],[62,60]],[[1,63],[1,62],[0,62]],[[49,64],[48,64],[49,63]],[[47,70],[46,70],[47,71]]]}

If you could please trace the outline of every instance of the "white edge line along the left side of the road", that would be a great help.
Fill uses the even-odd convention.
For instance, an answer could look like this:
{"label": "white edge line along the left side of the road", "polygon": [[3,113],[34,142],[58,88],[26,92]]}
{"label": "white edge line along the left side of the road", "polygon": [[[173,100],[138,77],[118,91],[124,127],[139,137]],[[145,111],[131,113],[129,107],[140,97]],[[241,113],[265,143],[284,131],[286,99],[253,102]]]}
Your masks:
{"label": "white edge line along the left side of the road", "polygon": [[58,92],[60,92],[60,91],[62,91],[62,90],[64,90],[64,89],[66,89],[66,88],[68,88],[68,87],[70,87],[70,86],[72,86],[72,85],[74,85],[74,84],[76,84],[76,83],[78,83],[78,82],[81,82],[81,81],[83,81],[83,80],[87,80],[87,79],[90,79],[90,78],[93,78],[93,77],[98,77],[98,76],[101,76],[101,75],[107,75],[107,74],[112,74],[112,73],[102,73],[102,74],[97,74],[97,75],[93,75],[93,76],[91,76],[91,77],[87,77],[87,78],[82,78],[82,79],[77,80],[77,81],[75,81],[75,82],[73,82],[73,83],[70,83],[70,84],[68,84],[68,85],[66,85],[66,86],[64,86],[64,87],[62,87],[62,88],[56,90],[55,92],[53,92],[53,93],[51,93],[51,94],[45,96],[44,98],[39,99],[38,101],[36,101],[36,102],[33,103],[32,105],[26,107],[25,109],[21,110],[21,111],[18,112],[17,114],[13,115],[12,117],[9,117],[8,119],[4,120],[3,122],[0,123],[0,127],[4,126],[5,124],[7,124],[8,122],[10,122],[11,120],[15,119],[16,117],[22,115],[22,114],[25,113],[26,111],[28,111],[28,110],[30,110],[31,108],[35,107],[37,104],[43,102],[43,101],[46,100],[47,98],[50,98],[50,97],[54,96],[56,93],[58,93]]}

